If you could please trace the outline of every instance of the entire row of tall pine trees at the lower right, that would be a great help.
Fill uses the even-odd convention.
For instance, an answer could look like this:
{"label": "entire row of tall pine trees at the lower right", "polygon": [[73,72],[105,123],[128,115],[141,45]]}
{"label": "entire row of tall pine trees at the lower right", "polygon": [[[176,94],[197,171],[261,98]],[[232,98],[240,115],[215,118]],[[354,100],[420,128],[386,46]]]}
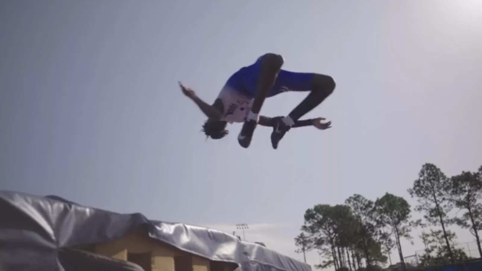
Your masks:
{"label": "entire row of tall pine trees at the lower right", "polygon": [[[396,247],[403,270],[409,265],[404,265],[400,239],[412,240],[410,232],[415,227],[441,226],[441,230],[422,234],[427,249],[420,260],[424,266],[453,263],[468,258],[455,247],[455,233],[446,229],[456,223],[476,236],[482,255],[478,236],[482,230],[482,166],[478,172],[448,178],[440,168],[426,163],[408,192],[417,200],[415,211],[424,215],[425,223],[412,221],[411,206],[402,197],[385,193],[374,202],[354,194],[344,204],[317,204],[306,210],[302,233],[295,238],[297,252],[316,248],[324,257],[315,265],[317,269],[381,270],[379,265],[387,263],[386,255]],[[464,213],[450,217],[454,207]]]}

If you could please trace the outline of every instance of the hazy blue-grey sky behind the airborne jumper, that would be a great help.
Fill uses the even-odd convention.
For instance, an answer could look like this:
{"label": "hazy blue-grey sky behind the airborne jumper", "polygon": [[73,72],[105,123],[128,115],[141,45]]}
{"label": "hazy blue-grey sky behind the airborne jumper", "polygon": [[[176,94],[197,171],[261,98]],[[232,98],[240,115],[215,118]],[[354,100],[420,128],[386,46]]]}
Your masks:
{"label": "hazy blue-grey sky behind the airborne jumper", "polygon": [[[303,259],[293,239],[307,208],[386,192],[414,206],[423,163],[447,176],[482,165],[480,29],[480,0],[1,0],[0,189],[227,232],[247,223],[248,241]],[[277,150],[266,127],[249,149],[240,124],[206,140],[177,81],[212,102],[268,52],[335,79],[306,115],[333,128],[293,129]],[[414,242],[405,255],[424,248]]]}

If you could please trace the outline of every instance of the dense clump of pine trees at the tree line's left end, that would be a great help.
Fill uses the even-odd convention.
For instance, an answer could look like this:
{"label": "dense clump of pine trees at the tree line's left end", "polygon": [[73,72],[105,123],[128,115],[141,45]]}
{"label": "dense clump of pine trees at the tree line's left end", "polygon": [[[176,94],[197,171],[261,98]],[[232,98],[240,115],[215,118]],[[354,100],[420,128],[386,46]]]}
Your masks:
{"label": "dense clump of pine trees at the tree line's left end", "polygon": [[374,202],[355,194],[346,203],[318,204],[305,212],[301,230],[311,239],[308,243],[328,258],[320,267],[360,265],[361,255],[367,264],[387,262],[381,251],[380,225],[373,217]]}

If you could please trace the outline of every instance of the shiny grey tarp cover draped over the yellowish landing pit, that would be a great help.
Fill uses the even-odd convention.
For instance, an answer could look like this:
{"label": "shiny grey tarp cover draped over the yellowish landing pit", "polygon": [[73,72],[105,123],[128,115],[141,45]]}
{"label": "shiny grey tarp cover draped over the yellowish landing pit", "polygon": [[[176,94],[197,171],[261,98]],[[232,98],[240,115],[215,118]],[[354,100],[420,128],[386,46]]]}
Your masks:
{"label": "shiny grey tarp cover draped over the yellowish landing pit", "polygon": [[59,250],[113,241],[145,227],[150,238],[200,257],[236,263],[243,270],[311,271],[306,263],[219,230],[109,212],[57,196],[0,191],[0,210],[0,243],[6,244],[0,245],[6,265],[0,270],[57,270],[62,265]]}

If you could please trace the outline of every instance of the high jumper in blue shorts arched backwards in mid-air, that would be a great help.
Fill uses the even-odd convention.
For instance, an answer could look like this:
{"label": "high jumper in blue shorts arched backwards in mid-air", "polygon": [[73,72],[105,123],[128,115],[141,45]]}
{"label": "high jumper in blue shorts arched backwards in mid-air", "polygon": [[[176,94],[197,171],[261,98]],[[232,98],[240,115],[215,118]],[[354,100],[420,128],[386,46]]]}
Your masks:
{"label": "high jumper in blue shorts arched backwards in mid-air", "polygon": [[[248,148],[256,125],[273,127],[271,145],[274,149],[291,128],[315,126],[320,130],[331,127],[324,118],[299,120],[316,108],[335,90],[335,81],[328,75],[292,72],[281,69],[284,60],[279,54],[264,54],[250,66],[243,67],[231,75],[212,105],[207,104],[196,93],[181,82],[184,95],[194,101],[208,117],[202,126],[206,136],[220,139],[228,135],[227,123],[244,122],[238,136],[243,148]],[[283,92],[308,92],[308,96],[285,117],[269,118],[259,114],[267,97]]]}

